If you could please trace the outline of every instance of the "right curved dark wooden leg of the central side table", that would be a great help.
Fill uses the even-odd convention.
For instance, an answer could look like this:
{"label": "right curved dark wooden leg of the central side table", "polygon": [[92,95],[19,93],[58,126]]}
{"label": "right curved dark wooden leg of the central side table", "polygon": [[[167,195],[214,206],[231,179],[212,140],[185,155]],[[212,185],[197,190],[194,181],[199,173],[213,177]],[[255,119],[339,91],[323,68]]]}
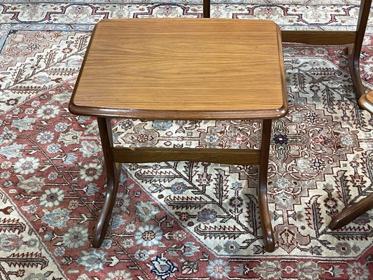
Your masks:
{"label": "right curved dark wooden leg of the central side table", "polygon": [[262,221],[263,240],[265,244],[265,249],[268,252],[274,251],[274,232],[272,229],[271,215],[269,214],[267,200],[267,174],[269,159],[269,142],[271,141],[271,127],[272,120],[263,120],[258,184],[260,220]]}

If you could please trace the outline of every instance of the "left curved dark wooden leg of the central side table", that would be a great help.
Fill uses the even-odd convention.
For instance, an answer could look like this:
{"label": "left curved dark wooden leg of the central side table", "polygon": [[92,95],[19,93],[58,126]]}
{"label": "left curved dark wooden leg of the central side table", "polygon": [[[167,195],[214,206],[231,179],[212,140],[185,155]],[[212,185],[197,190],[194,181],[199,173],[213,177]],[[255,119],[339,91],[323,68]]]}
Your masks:
{"label": "left curved dark wooden leg of the central side table", "polygon": [[111,219],[111,212],[115,204],[115,197],[118,192],[119,170],[113,161],[113,132],[111,130],[111,118],[97,118],[99,123],[99,133],[101,138],[101,146],[104,151],[104,160],[107,174],[107,186],[104,205],[101,209],[99,221],[93,233],[92,246],[99,248],[104,241],[108,223]]}

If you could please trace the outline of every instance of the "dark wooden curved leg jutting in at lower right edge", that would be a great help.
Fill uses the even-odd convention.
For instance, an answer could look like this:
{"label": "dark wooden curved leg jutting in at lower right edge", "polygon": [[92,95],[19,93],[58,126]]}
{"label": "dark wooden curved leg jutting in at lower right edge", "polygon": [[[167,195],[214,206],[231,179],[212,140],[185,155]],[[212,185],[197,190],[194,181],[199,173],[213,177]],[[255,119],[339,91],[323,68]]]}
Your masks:
{"label": "dark wooden curved leg jutting in at lower right edge", "polygon": [[360,200],[360,202],[346,207],[339,214],[337,214],[329,224],[331,230],[337,230],[351,223],[361,214],[373,208],[373,193]]}

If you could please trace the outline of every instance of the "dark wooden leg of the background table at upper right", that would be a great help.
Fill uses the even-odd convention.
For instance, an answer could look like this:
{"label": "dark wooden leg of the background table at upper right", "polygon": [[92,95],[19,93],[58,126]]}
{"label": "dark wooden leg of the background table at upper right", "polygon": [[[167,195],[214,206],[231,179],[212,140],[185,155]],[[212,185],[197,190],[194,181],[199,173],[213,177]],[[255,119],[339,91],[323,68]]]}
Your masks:
{"label": "dark wooden leg of the background table at upper right", "polygon": [[360,52],[363,45],[365,29],[367,28],[371,3],[372,0],[361,1],[355,43],[349,45],[349,66],[356,99],[359,99],[365,94],[365,87],[360,76]]}

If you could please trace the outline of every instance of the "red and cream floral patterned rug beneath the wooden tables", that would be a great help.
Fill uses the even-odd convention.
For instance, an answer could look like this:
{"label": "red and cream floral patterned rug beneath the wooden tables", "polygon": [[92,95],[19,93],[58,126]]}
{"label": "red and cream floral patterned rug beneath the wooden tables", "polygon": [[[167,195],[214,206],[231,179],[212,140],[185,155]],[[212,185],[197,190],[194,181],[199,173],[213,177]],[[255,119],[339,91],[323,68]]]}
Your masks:
{"label": "red and cream floral patterned rug beneath the wooden tables", "polygon": [[[266,253],[257,168],[122,165],[108,236],[90,246],[105,184],[97,123],[67,104],[96,22],[201,17],[194,0],[0,3],[0,279],[373,279],[373,211],[328,223],[373,190],[373,119],[346,48],[285,44],[289,114],[272,127]],[[358,1],[221,1],[220,18],[353,29]],[[372,27],[372,26],[371,26]],[[373,36],[361,54],[373,88]],[[115,121],[125,146],[258,148],[258,121]]]}

